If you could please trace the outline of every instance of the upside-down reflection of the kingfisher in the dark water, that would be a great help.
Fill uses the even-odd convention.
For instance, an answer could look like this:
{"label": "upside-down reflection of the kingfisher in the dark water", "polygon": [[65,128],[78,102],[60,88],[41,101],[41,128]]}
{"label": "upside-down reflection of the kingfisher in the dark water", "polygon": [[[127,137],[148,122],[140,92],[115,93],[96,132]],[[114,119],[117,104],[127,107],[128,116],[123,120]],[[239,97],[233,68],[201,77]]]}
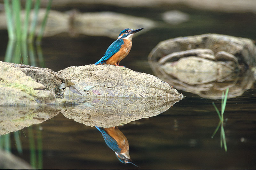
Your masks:
{"label": "upside-down reflection of the kingfisher in the dark water", "polygon": [[132,162],[129,154],[128,140],[117,126],[111,128],[102,128],[98,126],[95,127],[101,132],[106,144],[116,153],[116,157],[120,162],[124,164],[131,163],[132,165],[135,165]]}

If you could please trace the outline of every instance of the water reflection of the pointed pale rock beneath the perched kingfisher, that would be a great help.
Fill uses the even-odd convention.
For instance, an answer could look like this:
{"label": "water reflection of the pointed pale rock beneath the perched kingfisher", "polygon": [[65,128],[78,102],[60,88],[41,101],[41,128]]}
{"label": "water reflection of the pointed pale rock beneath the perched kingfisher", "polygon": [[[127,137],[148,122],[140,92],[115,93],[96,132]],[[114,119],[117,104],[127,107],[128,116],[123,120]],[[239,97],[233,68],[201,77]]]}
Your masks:
{"label": "water reflection of the pointed pale rock beneath the perched kingfisher", "polygon": [[168,98],[78,98],[78,106],[61,113],[87,126],[104,128],[148,118],[163,113],[180,99]]}

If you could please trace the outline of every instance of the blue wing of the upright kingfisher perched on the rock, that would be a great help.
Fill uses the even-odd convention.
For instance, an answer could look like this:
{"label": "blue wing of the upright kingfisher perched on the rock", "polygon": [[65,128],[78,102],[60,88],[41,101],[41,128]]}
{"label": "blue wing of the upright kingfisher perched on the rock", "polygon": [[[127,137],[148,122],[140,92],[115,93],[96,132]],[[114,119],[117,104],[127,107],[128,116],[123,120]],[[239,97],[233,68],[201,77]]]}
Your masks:
{"label": "blue wing of the upright kingfisher perched on the rock", "polygon": [[105,63],[112,55],[116,54],[121,46],[124,44],[124,41],[121,39],[117,39],[114,41],[107,49],[106,53],[103,55],[103,57],[95,64],[102,64]]}

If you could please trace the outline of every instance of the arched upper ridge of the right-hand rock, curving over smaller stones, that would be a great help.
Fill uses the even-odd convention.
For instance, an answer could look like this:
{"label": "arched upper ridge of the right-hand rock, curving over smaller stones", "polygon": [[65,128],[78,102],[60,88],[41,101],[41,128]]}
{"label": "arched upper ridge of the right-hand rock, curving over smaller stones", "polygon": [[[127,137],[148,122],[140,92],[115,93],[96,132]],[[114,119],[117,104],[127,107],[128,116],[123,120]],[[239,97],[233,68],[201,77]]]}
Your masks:
{"label": "arched upper ridge of the right-hand rock, curving over smaller stones", "polygon": [[215,55],[221,51],[234,55],[241,65],[255,66],[256,63],[256,47],[252,40],[220,34],[202,34],[162,41],[150,52],[148,58],[150,61],[158,61],[172,53],[201,48],[212,50]]}

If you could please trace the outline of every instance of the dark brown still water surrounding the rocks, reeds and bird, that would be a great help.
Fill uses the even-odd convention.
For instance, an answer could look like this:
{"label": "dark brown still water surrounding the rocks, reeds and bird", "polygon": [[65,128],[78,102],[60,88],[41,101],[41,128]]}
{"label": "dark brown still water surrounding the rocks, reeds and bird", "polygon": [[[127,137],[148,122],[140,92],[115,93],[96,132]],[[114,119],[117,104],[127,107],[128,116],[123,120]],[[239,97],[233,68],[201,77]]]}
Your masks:
{"label": "dark brown still water surrounding the rocks, reeds and bird", "polygon": [[[151,12],[136,8],[130,12],[126,8],[123,10],[127,14],[132,12],[133,15],[160,21],[161,12],[169,10],[166,8]],[[132,50],[120,65],[154,75],[148,64],[149,52],[158,42],[178,36],[220,33],[256,39],[254,14],[195,11],[185,7],[180,9],[190,14],[188,22],[177,26],[161,23],[160,27],[134,37]],[[6,33],[1,31],[1,61],[4,60],[7,46]],[[45,67],[58,71],[69,66],[95,63],[113,41],[107,37],[70,37],[68,34],[44,38],[41,47]],[[196,94],[178,90],[186,97],[172,108],[155,117],[119,127],[129,141],[131,159],[141,169],[255,169],[255,85],[241,96],[227,101],[223,126],[227,152],[220,147],[220,129],[211,138],[219,122],[212,101],[219,109],[221,101],[203,99]],[[41,138],[39,134],[42,135],[42,152],[36,150],[36,159],[39,157],[43,161],[45,169],[139,169],[119,162],[95,127],[85,126],[62,114],[33,125],[30,129],[23,129],[26,137],[21,133],[22,154],[17,152],[11,135],[12,153],[27,162],[32,159],[28,141],[28,131],[31,129],[35,141]],[[35,145],[37,148],[37,142]]]}

